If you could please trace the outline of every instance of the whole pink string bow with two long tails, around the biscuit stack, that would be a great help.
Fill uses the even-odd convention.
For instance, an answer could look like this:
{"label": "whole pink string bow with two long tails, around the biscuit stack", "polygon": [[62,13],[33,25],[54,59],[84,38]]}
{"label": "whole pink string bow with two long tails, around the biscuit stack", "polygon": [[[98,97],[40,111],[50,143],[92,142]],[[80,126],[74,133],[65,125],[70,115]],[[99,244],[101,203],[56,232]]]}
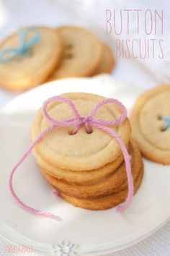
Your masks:
{"label": "whole pink string bow with two long tails, around the biscuit stack", "polygon": [[[68,104],[68,106],[73,111],[73,116],[71,118],[64,119],[61,121],[57,120],[57,119],[53,119],[53,117],[49,116],[49,114],[47,112],[48,104],[53,101],[59,101],[59,102]],[[118,117],[117,119],[112,120],[112,121],[94,118],[94,115],[97,113],[97,110],[107,103],[115,103],[117,106],[119,106],[120,110],[122,111],[122,114],[120,115],[120,117]],[[69,100],[68,98],[61,97],[61,96],[54,96],[52,98],[49,98],[47,101],[45,101],[43,103],[42,114],[50,122],[50,124],[51,124],[50,127],[43,130],[40,133],[40,135],[38,135],[35,138],[35,140],[32,142],[30,147],[27,148],[24,155],[22,155],[22,158],[20,158],[19,161],[16,163],[16,165],[12,168],[12,172],[9,176],[9,189],[12,193],[12,196],[19,204],[19,206],[22,207],[24,210],[26,210],[28,213],[34,213],[39,216],[45,216],[48,218],[55,218],[55,219],[59,220],[58,216],[55,216],[51,213],[48,213],[48,212],[45,212],[42,210],[36,210],[35,208],[31,208],[30,206],[25,205],[24,202],[22,202],[22,200],[19,199],[16,192],[14,191],[14,187],[13,187],[13,183],[12,183],[14,173],[17,170],[17,168],[21,165],[21,163],[24,161],[24,159],[27,158],[27,156],[32,152],[32,149],[41,140],[41,138],[44,135],[51,132],[55,127],[73,127],[73,135],[75,135],[76,132],[79,131],[79,128],[82,125],[84,125],[86,127],[87,133],[92,132],[91,127],[97,127],[98,129],[101,129],[104,132],[107,132],[112,137],[114,137],[115,140],[117,141],[117,143],[120,145],[120,148],[122,150],[122,155],[125,160],[125,168],[126,168],[127,179],[128,179],[128,197],[126,198],[125,202],[122,203],[122,205],[117,206],[117,210],[122,211],[122,210],[125,210],[126,208],[128,208],[128,206],[130,205],[130,202],[133,199],[133,176],[132,176],[132,171],[131,171],[131,166],[130,166],[130,155],[128,153],[127,148],[125,147],[124,142],[122,142],[122,139],[117,135],[117,133],[115,131],[113,131],[111,128],[108,127],[108,126],[120,124],[122,121],[124,121],[126,119],[127,110],[126,110],[125,106],[123,106],[122,103],[120,103],[120,101],[117,101],[115,99],[105,98],[104,100],[97,103],[96,106],[94,106],[94,108],[91,110],[91,112],[88,116],[81,116],[79,114],[79,112],[77,111],[76,106],[74,106],[74,104],[71,100]],[[57,192],[55,192],[55,194],[58,195]]]}

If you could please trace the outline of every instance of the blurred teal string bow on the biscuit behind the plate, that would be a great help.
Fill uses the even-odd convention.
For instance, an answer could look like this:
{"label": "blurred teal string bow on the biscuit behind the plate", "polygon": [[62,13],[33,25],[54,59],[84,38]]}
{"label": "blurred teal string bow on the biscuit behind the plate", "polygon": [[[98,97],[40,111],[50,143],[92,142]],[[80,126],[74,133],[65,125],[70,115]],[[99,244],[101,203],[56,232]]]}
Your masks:
{"label": "blurred teal string bow on the biscuit behind the plate", "polygon": [[[33,32],[34,35],[30,40],[27,40],[27,34]],[[22,58],[28,53],[32,46],[40,41],[40,32],[35,27],[27,27],[19,30],[19,47],[16,48],[5,48],[0,51],[0,62],[7,63],[12,61],[16,56]]]}

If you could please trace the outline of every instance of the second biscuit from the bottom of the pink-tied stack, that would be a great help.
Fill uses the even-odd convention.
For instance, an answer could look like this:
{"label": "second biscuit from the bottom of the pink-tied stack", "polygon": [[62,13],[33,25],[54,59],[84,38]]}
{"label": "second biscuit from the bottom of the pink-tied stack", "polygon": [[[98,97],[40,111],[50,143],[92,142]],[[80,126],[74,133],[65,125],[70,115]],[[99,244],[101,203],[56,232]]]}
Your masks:
{"label": "second biscuit from the bottom of the pink-tied stack", "polygon": [[[131,156],[133,179],[136,179],[142,167],[142,161],[140,151],[134,142],[131,146]],[[59,192],[63,192],[66,195],[80,199],[110,195],[112,193],[119,192],[128,186],[125,163],[122,163],[121,166],[117,168],[117,171],[115,171],[113,174],[104,177],[104,179],[100,180],[99,182],[88,185],[76,185],[73,183],[69,184],[68,182],[64,182],[63,180],[50,176],[49,174],[45,173],[44,170],[42,170],[42,173],[45,175],[46,179],[48,179],[48,182],[50,182],[53,187],[58,189]]]}

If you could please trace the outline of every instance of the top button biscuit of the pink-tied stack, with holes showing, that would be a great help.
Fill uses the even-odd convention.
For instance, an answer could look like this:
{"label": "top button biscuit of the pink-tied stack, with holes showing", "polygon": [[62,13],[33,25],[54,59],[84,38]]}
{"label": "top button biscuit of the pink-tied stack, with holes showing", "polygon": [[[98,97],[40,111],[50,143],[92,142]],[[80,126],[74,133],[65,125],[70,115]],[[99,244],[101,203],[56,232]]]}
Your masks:
{"label": "top button biscuit of the pink-tied stack, with holes showing", "polygon": [[[91,109],[103,99],[102,96],[89,93],[67,93],[64,96],[73,101],[83,116],[89,114]],[[73,116],[68,105],[58,102],[49,104],[48,114],[59,120]],[[120,108],[109,103],[99,108],[95,117],[112,120],[120,114]],[[32,140],[35,140],[35,137],[49,126],[50,123],[42,116],[42,111],[38,111],[32,125]],[[92,128],[93,132],[87,134],[85,127],[82,126],[76,135],[71,135],[73,127],[55,128],[35,145],[35,150],[53,166],[73,171],[88,171],[115,161],[122,154],[120,145],[107,132]],[[111,129],[117,132],[126,146],[129,144],[130,124],[128,119]]]}

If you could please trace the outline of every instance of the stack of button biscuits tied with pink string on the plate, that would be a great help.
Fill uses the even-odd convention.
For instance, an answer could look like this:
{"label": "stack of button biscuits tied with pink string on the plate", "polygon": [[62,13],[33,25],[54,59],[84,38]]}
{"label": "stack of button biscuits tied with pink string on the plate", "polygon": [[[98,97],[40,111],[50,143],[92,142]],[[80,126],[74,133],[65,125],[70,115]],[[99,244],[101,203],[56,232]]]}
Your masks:
{"label": "stack of button biscuits tied with pink string on the plate", "polygon": [[[103,99],[89,93],[66,93],[79,111],[86,116]],[[63,120],[73,116],[66,103],[49,103],[48,114]],[[117,119],[120,108],[108,103],[98,109],[97,119]],[[49,127],[50,123],[39,110],[32,124],[32,140]],[[104,210],[124,202],[128,195],[125,162],[115,138],[100,129],[84,126],[73,135],[73,127],[56,127],[42,137],[33,151],[42,174],[57,189],[63,200],[80,208]],[[111,128],[119,135],[131,155],[134,190],[143,178],[143,163],[138,146],[130,136],[128,118]]]}

